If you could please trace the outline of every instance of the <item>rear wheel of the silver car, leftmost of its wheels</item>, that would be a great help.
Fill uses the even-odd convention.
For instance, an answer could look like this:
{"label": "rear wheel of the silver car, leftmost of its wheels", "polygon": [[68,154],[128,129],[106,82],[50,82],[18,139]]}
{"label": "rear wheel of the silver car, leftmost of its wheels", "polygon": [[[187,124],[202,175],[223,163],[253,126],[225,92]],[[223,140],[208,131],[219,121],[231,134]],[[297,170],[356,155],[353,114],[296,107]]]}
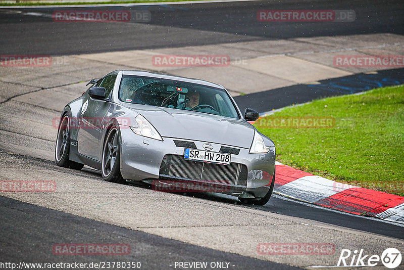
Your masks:
{"label": "rear wheel of the silver car, leftmost of its wheels", "polygon": [[58,137],[55,146],[55,161],[60,167],[81,170],[84,164],[71,161],[69,159],[70,151],[70,116],[66,113],[59,123]]}

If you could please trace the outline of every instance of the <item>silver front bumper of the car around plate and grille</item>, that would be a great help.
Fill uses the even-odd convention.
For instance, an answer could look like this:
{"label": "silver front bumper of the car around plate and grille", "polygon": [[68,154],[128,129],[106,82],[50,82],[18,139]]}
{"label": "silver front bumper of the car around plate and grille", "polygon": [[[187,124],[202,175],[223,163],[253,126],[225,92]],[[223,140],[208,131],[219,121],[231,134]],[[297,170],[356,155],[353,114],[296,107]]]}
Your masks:
{"label": "silver front bumper of the car around plate and grille", "polygon": [[[228,185],[231,187],[231,193],[234,194],[250,192],[256,195],[265,195],[273,179],[273,173],[275,169],[275,147],[271,147],[270,151],[266,154],[249,154],[249,149],[215,144],[211,142],[200,142],[167,137],[163,138],[164,141],[158,141],[139,136],[126,126],[121,126],[120,133],[122,141],[122,147],[120,149],[121,174],[124,179],[129,179],[132,181],[173,178],[182,180],[190,179],[192,181],[202,180],[202,182],[205,181],[209,183]],[[193,142],[196,148],[200,150],[204,150],[203,145],[205,143],[210,143],[213,146],[213,149],[211,150],[212,152],[220,152],[221,147],[223,146],[233,149],[239,149],[238,154],[231,154],[231,163],[235,163],[238,168],[242,168],[243,166],[245,166],[243,172],[244,176],[242,176],[245,177],[245,181],[242,181],[242,177],[240,178],[240,175],[237,176],[237,179],[240,179],[240,181],[234,183],[232,183],[231,181],[223,182],[223,179],[225,179],[225,176],[223,175],[221,176],[221,179],[215,179],[214,175],[219,175],[221,173],[220,171],[222,167],[217,167],[216,172],[211,172],[211,174],[209,175],[209,179],[205,180],[198,177],[191,177],[192,179],[187,177],[173,177],[173,175],[169,175],[167,174],[167,172],[162,173],[163,170],[161,170],[161,167],[162,163],[164,165],[163,159],[167,157],[167,155],[176,156],[177,159],[175,162],[178,163],[178,158],[182,157],[184,154],[185,148],[176,146],[174,141]],[[212,168],[212,166],[215,167],[226,165],[210,164],[209,166],[211,166]],[[205,170],[207,169],[208,165]],[[240,196],[242,197],[243,195]]]}

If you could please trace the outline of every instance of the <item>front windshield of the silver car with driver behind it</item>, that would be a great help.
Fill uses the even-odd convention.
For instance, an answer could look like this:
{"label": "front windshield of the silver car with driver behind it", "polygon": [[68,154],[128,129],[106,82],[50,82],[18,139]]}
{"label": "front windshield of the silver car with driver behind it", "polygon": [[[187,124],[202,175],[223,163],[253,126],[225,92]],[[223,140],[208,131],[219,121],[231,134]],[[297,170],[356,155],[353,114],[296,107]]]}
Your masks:
{"label": "front windshield of the silver car with driver behind it", "polygon": [[238,118],[235,106],[223,89],[183,81],[124,75],[119,99]]}

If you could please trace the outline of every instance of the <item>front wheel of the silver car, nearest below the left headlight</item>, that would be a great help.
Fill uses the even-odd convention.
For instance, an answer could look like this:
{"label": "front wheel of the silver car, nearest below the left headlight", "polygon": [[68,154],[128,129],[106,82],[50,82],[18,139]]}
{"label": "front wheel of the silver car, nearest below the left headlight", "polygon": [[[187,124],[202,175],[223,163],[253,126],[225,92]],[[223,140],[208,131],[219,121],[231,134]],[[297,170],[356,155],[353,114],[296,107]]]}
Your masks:
{"label": "front wheel of the silver car, nearest below the left headlight", "polygon": [[107,134],[102,155],[101,174],[105,181],[125,183],[120,170],[119,132],[114,126]]}

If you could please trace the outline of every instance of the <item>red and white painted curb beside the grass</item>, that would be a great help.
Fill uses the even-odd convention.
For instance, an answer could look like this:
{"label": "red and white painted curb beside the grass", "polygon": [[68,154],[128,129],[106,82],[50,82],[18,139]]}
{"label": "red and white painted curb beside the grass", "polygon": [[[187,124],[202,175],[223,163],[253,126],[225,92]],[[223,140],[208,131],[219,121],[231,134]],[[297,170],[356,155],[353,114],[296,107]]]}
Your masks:
{"label": "red and white painted curb beside the grass", "polygon": [[338,183],[276,162],[274,193],[404,224],[404,197]]}

